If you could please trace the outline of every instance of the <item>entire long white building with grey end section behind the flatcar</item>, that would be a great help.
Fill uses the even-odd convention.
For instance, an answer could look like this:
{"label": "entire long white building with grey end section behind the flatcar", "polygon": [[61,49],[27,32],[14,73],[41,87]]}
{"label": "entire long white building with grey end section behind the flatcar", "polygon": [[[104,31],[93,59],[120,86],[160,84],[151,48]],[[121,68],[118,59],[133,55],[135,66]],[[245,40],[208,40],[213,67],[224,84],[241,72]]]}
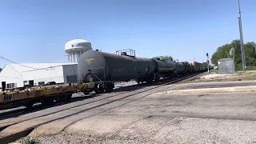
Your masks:
{"label": "entire long white building with grey end section behind the flatcar", "polygon": [[78,82],[77,69],[76,63],[6,64],[0,72],[0,87]]}

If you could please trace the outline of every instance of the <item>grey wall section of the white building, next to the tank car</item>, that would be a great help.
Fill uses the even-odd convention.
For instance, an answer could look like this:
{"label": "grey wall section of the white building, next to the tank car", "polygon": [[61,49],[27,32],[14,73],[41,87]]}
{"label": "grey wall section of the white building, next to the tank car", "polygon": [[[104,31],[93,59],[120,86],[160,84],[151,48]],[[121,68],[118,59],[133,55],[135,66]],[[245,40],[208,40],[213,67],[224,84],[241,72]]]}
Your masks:
{"label": "grey wall section of the white building, next to the tank car", "polygon": [[[63,65],[63,78],[65,83],[78,82],[78,65]],[[69,78],[68,78],[69,77]],[[76,80],[74,80],[76,78]]]}

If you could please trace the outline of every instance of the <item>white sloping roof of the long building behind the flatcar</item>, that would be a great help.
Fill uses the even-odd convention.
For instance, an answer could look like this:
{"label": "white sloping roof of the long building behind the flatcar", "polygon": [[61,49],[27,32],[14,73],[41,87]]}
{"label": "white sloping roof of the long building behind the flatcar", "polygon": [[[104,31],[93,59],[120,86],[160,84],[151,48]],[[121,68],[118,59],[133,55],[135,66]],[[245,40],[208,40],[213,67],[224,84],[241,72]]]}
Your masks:
{"label": "white sloping roof of the long building behind the flatcar", "polygon": [[[30,70],[43,70],[51,67],[56,66],[63,66],[63,65],[74,65],[77,63],[9,63],[6,64],[6,66],[10,66],[14,70],[17,70],[18,72],[24,72],[24,71],[30,71]],[[4,69],[6,66],[4,66],[2,69]]]}

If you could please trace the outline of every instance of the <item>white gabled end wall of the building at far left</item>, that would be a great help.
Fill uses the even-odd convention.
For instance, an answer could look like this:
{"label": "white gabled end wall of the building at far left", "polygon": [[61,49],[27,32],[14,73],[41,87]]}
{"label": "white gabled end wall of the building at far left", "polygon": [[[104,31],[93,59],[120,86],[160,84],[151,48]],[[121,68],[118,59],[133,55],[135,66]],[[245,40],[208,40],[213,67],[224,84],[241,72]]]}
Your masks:
{"label": "white gabled end wall of the building at far left", "polygon": [[2,87],[2,82],[15,83],[16,86],[21,86],[23,85],[22,74],[10,65],[6,65],[0,72],[0,87]]}

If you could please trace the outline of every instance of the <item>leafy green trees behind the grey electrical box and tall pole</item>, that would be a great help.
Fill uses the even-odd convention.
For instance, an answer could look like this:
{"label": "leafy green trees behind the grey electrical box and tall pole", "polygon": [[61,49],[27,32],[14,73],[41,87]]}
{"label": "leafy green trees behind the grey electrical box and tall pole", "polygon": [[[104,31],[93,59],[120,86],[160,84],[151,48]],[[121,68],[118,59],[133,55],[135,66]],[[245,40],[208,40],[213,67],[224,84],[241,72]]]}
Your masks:
{"label": "leafy green trees behind the grey electrical box and tall pole", "polygon": [[[244,44],[246,55],[246,70],[256,69],[256,52],[254,45],[254,42],[246,42],[246,44]],[[233,47],[234,56],[230,55],[230,49]],[[211,63],[213,63],[215,66],[218,66],[218,59],[222,58],[234,58],[235,69],[242,70],[241,45],[238,39],[226,45],[219,46],[211,57]]]}

